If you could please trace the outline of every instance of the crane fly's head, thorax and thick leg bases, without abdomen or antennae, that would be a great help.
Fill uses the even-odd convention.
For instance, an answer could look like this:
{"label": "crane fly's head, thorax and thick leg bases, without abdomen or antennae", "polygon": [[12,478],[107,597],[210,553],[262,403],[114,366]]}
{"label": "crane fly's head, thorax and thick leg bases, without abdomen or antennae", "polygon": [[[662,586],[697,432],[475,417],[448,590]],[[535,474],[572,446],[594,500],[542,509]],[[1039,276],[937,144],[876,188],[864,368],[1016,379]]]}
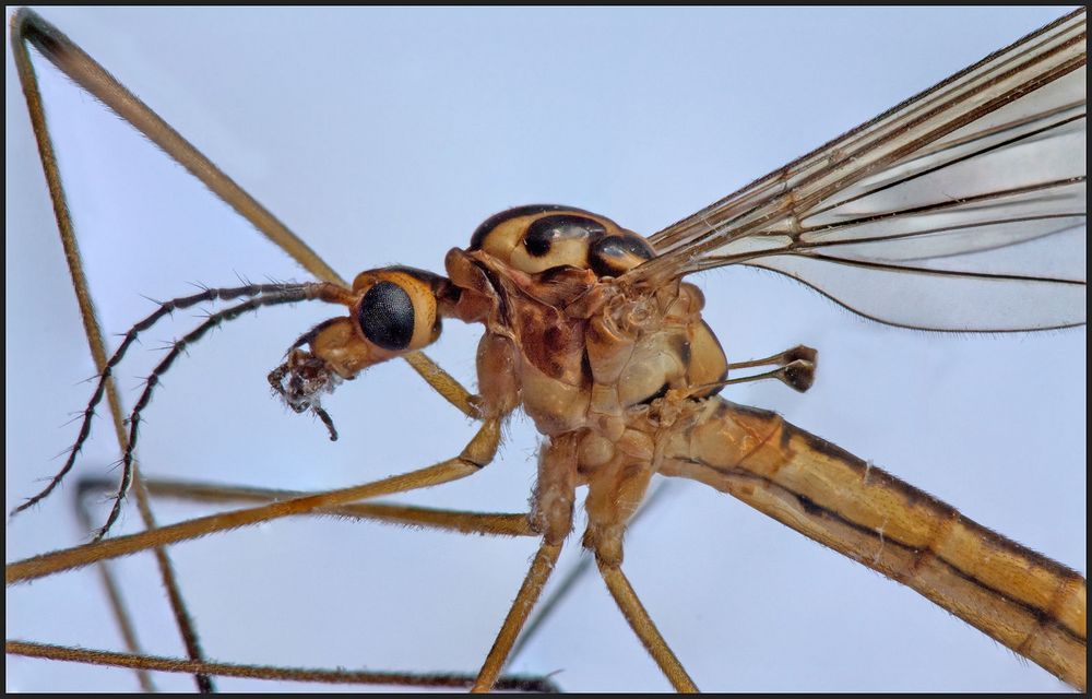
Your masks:
{"label": "crane fly's head, thorax and thick leg bases, without abdomen or antennae", "polygon": [[359,274],[342,299],[349,316],[307,333],[270,379],[297,412],[317,408],[340,380],[435,341],[441,318],[483,323],[480,415],[499,420],[522,405],[547,438],[535,531],[560,546],[573,488],[587,485],[584,545],[617,567],[626,522],[663,461],[657,440],[720,390],[728,368],[698,287],[614,284],[654,256],[641,236],[586,211],[501,212],[467,250],[448,253],[449,279],[405,268]]}

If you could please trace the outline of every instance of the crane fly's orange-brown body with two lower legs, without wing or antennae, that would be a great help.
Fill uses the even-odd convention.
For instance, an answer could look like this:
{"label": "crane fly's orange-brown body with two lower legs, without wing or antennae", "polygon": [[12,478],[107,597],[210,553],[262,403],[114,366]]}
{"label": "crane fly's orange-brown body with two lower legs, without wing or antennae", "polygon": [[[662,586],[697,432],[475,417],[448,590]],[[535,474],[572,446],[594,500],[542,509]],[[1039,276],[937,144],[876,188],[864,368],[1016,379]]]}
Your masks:
{"label": "crane fly's orange-brown body with two lower legs, without wing or antennae", "polygon": [[[701,292],[669,277],[625,283],[626,272],[654,257],[644,238],[586,211],[531,205],[501,212],[478,227],[470,248],[448,253],[447,279],[388,268],[361,273],[352,292],[323,293],[348,306],[348,317],[320,323],[271,375],[290,406],[321,411],[318,393],[426,346],[439,336],[441,318],[485,325],[475,410],[495,435],[522,406],[546,439],[529,516],[542,545],[477,689],[489,689],[499,676],[572,529],[575,488],[585,485],[583,546],[675,688],[697,688],[621,572],[627,522],[656,473],[731,493],[1083,683],[1084,647],[1075,636],[1084,608],[1079,573],[774,413],[721,400],[731,365],[701,319]],[[300,350],[305,343],[310,352]],[[740,366],[776,364],[773,376],[806,390],[815,359],[814,351],[797,347]],[[496,448],[494,436],[461,459],[479,469]],[[845,499],[832,497],[835,491]],[[951,540],[963,547],[950,549],[945,542]],[[1013,590],[1043,583],[1006,582],[1011,570],[951,573],[974,569],[976,556],[1011,558],[1024,577],[1040,571],[1054,591],[1051,602],[1013,620],[1006,611],[1021,594]],[[999,590],[1002,583],[1012,589]]]}

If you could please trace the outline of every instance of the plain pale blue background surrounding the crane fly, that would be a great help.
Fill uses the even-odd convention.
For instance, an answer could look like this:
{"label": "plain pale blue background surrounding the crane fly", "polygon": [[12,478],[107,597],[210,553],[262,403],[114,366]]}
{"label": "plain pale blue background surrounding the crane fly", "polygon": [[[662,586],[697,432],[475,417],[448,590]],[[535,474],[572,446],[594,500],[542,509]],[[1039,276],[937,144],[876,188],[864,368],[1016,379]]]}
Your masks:
{"label": "plain pale blue background surrounding the crane fly", "polygon": [[[346,276],[400,262],[439,271],[488,214],[541,201],[643,233],[856,126],[1059,16],[1060,9],[44,10]],[[74,437],[94,371],[8,57],[8,507]],[[237,275],[305,279],[94,102],[52,81],[88,272],[109,332],[151,305]],[[752,271],[701,284],[734,358],[820,350],[815,389],[732,389],[1085,570],[1085,335],[938,336],[859,320]],[[458,452],[471,427],[400,363],[329,401],[343,440],[288,414],[265,372],[321,308],[234,323],[166,377],[147,413],[149,474],[301,489]],[[149,335],[122,378],[192,313]],[[432,355],[473,381],[477,331]],[[127,388],[128,400],[135,392]],[[80,464],[117,458],[106,423]],[[534,435],[514,419],[477,477],[411,496],[518,511]],[[7,557],[84,541],[71,488],[7,530]],[[158,508],[163,521],[197,508]],[[582,518],[582,516],[581,516]],[[139,517],[127,513],[124,526]],[[578,526],[582,525],[582,520]],[[579,546],[560,565],[570,569]],[[477,670],[534,543],[339,521],[277,522],[176,547],[218,660]],[[179,655],[151,557],[121,570],[150,652]],[[916,593],[699,485],[679,484],[628,538],[626,570],[699,686],[720,690],[1056,690],[1053,677]],[[120,649],[91,571],[8,592],[9,638]],[[563,688],[665,690],[585,579],[515,664]],[[158,678],[189,690],[185,676]],[[129,690],[131,674],[9,659],[9,690]],[[221,680],[224,689],[268,684]],[[295,688],[295,687],[288,687]]]}

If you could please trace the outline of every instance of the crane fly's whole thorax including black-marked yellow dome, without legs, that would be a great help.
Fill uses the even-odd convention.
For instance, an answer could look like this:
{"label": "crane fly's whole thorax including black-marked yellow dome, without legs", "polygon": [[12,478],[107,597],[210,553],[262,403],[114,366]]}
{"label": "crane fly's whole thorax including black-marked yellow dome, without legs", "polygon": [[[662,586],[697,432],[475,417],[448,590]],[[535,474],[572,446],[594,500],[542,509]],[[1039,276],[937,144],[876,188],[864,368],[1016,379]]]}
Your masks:
{"label": "crane fly's whole thorax including black-marked yellow dome, without legs", "polygon": [[463,303],[489,307],[478,352],[486,404],[503,413],[521,403],[547,436],[587,430],[614,442],[632,422],[627,413],[670,390],[715,392],[691,392],[727,368],[701,320],[701,292],[678,280],[619,283],[654,256],[609,218],[547,205],[497,214],[468,250],[452,250],[448,273]]}

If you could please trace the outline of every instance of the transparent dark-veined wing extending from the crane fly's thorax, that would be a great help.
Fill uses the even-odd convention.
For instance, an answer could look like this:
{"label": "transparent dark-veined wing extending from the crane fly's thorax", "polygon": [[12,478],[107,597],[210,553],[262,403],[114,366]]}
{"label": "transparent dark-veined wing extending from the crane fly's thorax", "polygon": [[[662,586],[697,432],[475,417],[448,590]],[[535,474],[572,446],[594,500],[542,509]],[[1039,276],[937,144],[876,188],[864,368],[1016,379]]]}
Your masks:
{"label": "transparent dark-veined wing extending from the crane fly's thorax", "polygon": [[725,264],[875,320],[1085,322],[1085,11],[1069,14],[650,238],[628,282]]}

